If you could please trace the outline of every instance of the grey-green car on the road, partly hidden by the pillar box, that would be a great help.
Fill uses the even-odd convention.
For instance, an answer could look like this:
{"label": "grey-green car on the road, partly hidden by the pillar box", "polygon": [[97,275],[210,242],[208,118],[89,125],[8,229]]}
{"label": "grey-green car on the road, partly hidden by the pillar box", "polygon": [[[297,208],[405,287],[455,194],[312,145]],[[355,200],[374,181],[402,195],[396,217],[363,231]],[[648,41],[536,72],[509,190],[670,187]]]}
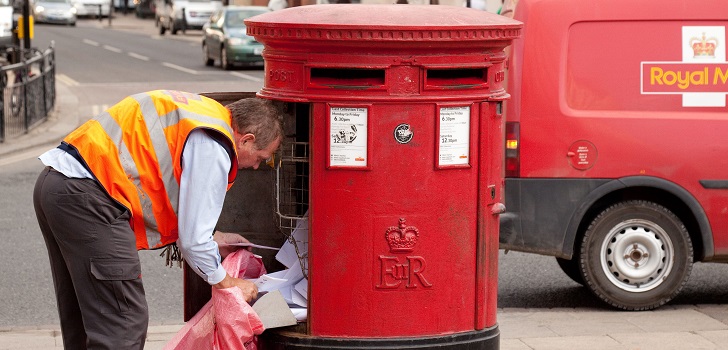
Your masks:
{"label": "grey-green car on the road, partly hidden by the pillar box", "polygon": [[226,6],[210,17],[203,28],[202,55],[205,65],[220,61],[222,69],[236,64],[262,65],[263,44],[245,34],[246,18],[270,12],[264,6]]}

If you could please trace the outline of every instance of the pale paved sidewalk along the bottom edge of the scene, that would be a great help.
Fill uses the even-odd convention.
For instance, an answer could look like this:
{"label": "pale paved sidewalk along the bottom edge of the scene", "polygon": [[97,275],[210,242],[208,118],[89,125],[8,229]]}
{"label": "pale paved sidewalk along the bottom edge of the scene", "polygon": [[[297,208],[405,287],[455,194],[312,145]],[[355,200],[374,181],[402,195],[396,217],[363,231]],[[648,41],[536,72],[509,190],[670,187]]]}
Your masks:
{"label": "pale paved sidewalk along the bottom edge of the scene", "polygon": [[[655,311],[499,309],[501,350],[728,349],[728,306],[665,306]],[[182,325],[149,327],[146,349],[162,349]],[[53,327],[0,330],[0,349],[62,348]]]}

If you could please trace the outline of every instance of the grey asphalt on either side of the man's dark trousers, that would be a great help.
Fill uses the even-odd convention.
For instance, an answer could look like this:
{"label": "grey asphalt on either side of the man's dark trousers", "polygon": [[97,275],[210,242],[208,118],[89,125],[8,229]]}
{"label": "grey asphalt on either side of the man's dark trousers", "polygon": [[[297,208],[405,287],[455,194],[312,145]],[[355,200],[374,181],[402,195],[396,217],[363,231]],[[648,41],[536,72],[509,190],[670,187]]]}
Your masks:
{"label": "grey asphalt on either side of the man's dark trousers", "polygon": [[[58,323],[50,264],[33,210],[33,186],[42,168],[35,157],[0,167],[0,328]],[[164,266],[158,254],[139,253],[150,321],[181,323],[182,270]]]}

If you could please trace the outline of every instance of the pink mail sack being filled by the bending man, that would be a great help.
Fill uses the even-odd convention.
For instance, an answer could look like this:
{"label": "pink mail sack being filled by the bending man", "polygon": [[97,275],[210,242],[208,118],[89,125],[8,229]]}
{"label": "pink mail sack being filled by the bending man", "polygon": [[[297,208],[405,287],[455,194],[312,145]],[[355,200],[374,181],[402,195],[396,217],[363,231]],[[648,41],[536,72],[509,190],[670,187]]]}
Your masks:
{"label": "pink mail sack being filled by the bending man", "polygon": [[[222,262],[232,277],[253,279],[265,274],[263,261],[240,249]],[[245,302],[240,288],[212,288],[207,302],[165,346],[165,350],[213,349],[256,350],[256,335],[263,333],[263,323]]]}

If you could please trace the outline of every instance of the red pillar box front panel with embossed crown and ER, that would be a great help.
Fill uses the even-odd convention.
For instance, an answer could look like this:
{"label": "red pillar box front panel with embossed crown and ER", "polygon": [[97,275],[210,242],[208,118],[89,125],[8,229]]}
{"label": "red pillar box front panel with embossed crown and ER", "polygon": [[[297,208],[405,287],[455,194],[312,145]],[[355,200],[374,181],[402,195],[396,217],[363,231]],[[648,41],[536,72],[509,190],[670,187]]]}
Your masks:
{"label": "red pillar box front panel with embossed crown and ER", "polygon": [[473,330],[480,105],[312,107],[310,334]]}

